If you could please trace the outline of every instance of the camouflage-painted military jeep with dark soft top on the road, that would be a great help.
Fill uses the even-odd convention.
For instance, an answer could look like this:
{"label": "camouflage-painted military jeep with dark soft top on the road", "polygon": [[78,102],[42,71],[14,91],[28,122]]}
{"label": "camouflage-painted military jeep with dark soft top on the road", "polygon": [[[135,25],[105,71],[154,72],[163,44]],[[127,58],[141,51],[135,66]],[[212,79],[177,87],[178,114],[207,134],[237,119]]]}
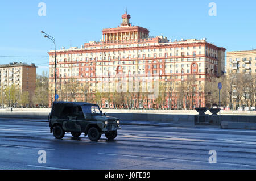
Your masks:
{"label": "camouflage-painted military jeep with dark soft top on the road", "polygon": [[91,141],[100,140],[101,134],[114,140],[117,130],[121,129],[119,119],[106,116],[97,104],[86,102],[53,102],[48,120],[51,133],[57,139],[70,132],[73,137],[84,133]]}

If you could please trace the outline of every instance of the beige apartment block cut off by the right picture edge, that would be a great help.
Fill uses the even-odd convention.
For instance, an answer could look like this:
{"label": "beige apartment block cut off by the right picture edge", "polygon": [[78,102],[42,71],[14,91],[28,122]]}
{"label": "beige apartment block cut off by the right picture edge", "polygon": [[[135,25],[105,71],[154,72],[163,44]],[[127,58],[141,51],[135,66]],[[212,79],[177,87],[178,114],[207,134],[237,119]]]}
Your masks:
{"label": "beige apartment block cut off by the right picture edge", "polygon": [[227,77],[233,84],[232,107],[255,107],[256,49],[227,52],[226,56]]}

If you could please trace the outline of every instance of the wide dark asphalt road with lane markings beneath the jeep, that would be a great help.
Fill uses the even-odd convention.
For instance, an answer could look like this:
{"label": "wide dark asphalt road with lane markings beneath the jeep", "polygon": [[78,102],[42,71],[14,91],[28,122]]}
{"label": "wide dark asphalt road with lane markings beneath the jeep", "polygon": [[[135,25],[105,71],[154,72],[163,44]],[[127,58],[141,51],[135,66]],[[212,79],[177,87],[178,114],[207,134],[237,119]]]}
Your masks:
{"label": "wide dark asphalt road with lane markings beneath the jeep", "polygon": [[92,142],[57,140],[45,121],[0,119],[0,169],[256,169],[255,131],[121,125],[114,141]]}

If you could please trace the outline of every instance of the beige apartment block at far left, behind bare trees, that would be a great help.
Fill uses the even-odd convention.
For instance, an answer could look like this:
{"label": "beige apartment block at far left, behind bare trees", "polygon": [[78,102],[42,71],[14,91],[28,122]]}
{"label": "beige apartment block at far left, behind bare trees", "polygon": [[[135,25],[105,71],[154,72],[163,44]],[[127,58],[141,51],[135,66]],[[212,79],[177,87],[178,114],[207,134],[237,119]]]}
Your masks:
{"label": "beige apartment block at far left, behind bare trees", "polygon": [[12,62],[0,65],[0,86],[3,90],[15,85],[22,92],[28,91],[30,99],[36,89],[36,66]]}

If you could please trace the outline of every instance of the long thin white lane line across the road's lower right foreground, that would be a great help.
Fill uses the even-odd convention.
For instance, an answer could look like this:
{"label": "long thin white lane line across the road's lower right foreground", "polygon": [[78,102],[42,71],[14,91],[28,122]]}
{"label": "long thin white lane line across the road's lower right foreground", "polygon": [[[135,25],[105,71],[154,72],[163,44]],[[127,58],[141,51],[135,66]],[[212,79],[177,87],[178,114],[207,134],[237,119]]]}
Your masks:
{"label": "long thin white lane line across the road's lower right foreground", "polygon": [[[158,157],[144,157],[144,156],[135,156],[135,155],[123,155],[123,154],[110,154],[110,153],[98,153],[102,155],[113,155],[113,156],[121,156],[121,157],[135,157],[135,158],[149,158],[149,159],[163,159],[163,160],[172,160],[172,161],[184,161],[184,162],[198,162],[198,163],[209,163],[204,161],[193,161],[189,159],[175,159],[175,158],[158,158]],[[233,165],[233,166],[249,166],[244,164],[237,164],[237,163],[216,163],[222,165]]]}

